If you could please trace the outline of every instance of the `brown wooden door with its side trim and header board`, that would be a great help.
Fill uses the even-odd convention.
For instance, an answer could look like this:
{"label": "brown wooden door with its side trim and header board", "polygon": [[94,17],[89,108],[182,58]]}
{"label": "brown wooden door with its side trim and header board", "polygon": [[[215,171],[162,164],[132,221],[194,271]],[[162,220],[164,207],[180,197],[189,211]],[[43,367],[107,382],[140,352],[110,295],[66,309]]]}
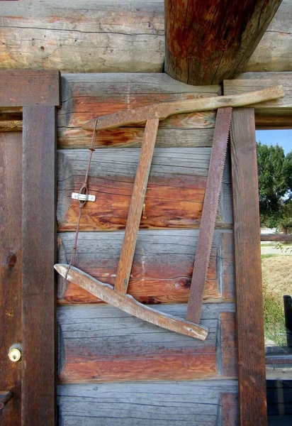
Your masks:
{"label": "brown wooden door with its side trim and header board", "polygon": [[[0,412],[4,426],[55,424],[59,81],[56,71],[0,71],[0,392],[13,394]],[[8,357],[14,345],[18,362]]]}

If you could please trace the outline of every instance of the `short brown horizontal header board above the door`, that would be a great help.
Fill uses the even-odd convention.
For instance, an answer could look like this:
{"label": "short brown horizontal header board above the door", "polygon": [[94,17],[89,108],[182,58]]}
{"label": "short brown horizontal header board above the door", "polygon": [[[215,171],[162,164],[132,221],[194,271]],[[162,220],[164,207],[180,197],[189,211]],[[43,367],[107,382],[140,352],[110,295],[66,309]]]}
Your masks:
{"label": "short brown horizontal header board above the door", "polygon": [[59,74],[57,70],[0,70],[0,107],[60,105]]}

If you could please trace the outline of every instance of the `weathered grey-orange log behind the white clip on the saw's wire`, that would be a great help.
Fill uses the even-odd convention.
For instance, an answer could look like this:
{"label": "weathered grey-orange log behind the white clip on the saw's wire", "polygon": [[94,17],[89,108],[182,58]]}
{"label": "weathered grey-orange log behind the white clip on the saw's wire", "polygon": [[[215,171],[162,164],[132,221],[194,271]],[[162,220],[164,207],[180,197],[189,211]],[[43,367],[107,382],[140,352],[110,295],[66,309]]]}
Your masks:
{"label": "weathered grey-orange log behind the white clip on the saw's wire", "polygon": [[[99,149],[93,153],[89,171],[89,192],[95,202],[87,202],[82,213],[82,231],[124,229],[140,150]],[[64,150],[58,153],[57,222],[60,231],[74,231],[79,192],[89,151]],[[200,226],[210,148],[155,148],[147,185],[141,228],[184,228]],[[229,164],[220,196],[216,226],[232,224]]]}

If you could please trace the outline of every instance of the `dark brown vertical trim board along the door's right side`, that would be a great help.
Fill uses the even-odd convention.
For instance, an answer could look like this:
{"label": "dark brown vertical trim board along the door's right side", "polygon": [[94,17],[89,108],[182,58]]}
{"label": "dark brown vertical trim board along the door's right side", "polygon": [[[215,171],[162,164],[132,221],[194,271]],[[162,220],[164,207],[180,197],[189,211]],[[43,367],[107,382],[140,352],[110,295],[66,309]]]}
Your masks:
{"label": "dark brown vertical trim board along the door's right side", "polygon": [[55,129],[55,107],[23,107],[23,426],[55,424]]}

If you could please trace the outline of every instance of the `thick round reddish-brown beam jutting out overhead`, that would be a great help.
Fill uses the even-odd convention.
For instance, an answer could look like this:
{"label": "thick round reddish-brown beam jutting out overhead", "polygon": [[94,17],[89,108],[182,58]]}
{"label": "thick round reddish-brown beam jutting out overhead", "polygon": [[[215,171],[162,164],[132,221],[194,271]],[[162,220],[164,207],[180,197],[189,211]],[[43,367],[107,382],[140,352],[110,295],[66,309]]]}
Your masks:
{"label": "thick round reddish-brown beam jutting out overhead", "polygon": [[165,0],[165,70],[188,84],[238,77],[281,0]]}

